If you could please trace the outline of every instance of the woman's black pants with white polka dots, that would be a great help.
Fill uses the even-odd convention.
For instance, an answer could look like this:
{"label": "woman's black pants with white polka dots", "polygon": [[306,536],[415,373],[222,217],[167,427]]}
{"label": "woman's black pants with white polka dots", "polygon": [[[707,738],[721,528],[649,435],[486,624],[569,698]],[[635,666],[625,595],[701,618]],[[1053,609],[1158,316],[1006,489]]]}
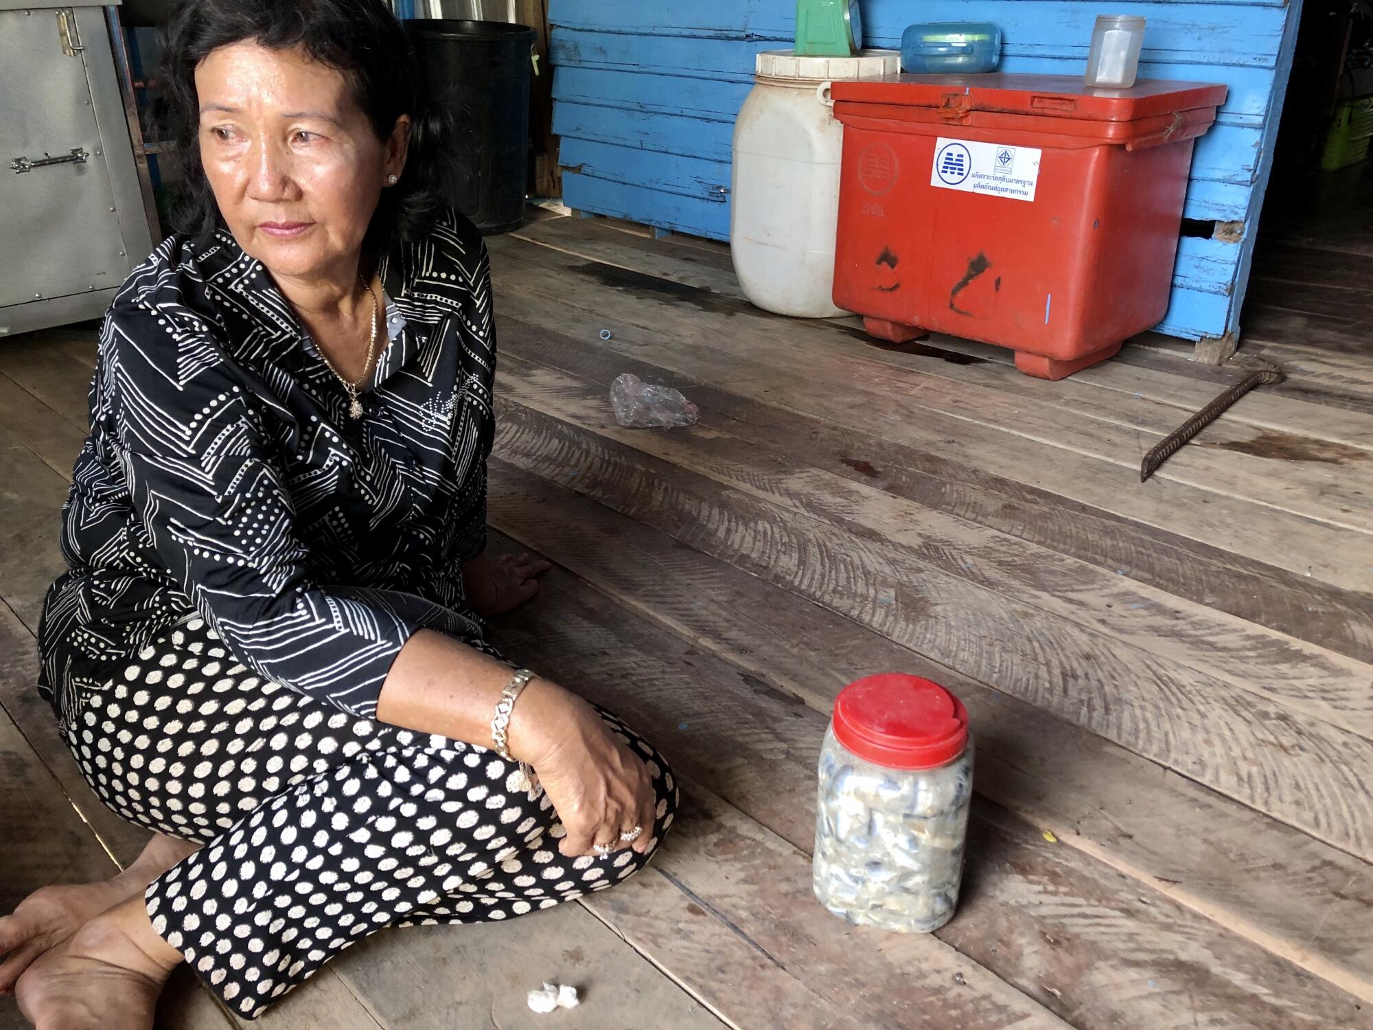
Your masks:
{"label": "woman's black pants with white polka dots", "polygon": [[[610,713],[658,791],[677,787]],[[152,926],[250,1019],[387,926],[482,923],[604,890],[648,861],[564,858],[548,798],[496,754],[345,714],[253,676],[200,619],[144,648],[63,725],[114,812],[199,851],[152,882]],[[652,854],[652,847],[649,849]]]}

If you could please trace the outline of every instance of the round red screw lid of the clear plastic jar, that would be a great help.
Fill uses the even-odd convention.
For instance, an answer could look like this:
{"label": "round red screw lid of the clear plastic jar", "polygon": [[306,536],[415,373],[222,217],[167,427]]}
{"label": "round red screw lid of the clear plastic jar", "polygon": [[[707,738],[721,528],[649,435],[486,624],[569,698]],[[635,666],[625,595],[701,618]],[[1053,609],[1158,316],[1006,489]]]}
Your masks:
{"label": "round red screw lid of the clear plastic jar", "polygon": [[859,758],[890,769],[932,769],[968,744],[968,710],[938,683],[881,673],[835,699],[835,737]]}

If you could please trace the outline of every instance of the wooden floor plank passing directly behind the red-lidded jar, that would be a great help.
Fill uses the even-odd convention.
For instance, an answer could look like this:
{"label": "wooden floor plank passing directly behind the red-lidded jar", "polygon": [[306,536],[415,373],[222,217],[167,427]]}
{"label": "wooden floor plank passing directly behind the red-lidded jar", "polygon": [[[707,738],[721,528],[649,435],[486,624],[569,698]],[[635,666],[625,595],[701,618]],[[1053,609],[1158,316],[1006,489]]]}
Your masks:
{"label": "wooden floor plank passing directly behind the red-lidded jar", "polygon": [[[724,658],[755,689],[766,683],[828,714],[843,684],[875,672],[945,683],[978,733],[979,794],[1344,990],[1373,996],[1366,862],[589,499],[500,460],[492,468],[493,526]],[[546,593],[538,604],[553,608]],[[684,714],[676,729],[692,726],[702,732]],[[673,729],[665,746],[678,737]],[[757,806],[750,814],[783,832]]]}

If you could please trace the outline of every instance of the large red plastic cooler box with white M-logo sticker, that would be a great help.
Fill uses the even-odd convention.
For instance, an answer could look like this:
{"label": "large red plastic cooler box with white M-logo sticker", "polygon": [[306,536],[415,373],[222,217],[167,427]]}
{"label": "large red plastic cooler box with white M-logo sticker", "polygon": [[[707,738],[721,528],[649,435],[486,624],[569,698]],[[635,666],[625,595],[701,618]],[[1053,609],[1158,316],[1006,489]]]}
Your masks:
{"label": "large red plastic cooler box with white M-logo sticker", "polygon": [[1063,379],[1163,319],[1192,141],[1223,85],[891,76],[833,98],[835,304],[872,335],[997,343]]}

